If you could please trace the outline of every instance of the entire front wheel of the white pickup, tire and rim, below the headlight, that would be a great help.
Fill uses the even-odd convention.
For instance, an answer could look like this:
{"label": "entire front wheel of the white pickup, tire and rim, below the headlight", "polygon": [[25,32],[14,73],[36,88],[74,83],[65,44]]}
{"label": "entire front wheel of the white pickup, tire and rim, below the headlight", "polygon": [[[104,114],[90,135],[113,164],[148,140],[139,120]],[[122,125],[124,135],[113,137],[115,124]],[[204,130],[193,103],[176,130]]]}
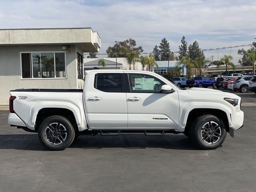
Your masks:
{"label": "entire front wheel of the white pickup, tire and rim, below the headlight", "polygon": [[202,149],[216,149],[226,138],[226,129],[220,119],[203,115],[193,122],[190,135],[192,142]]}

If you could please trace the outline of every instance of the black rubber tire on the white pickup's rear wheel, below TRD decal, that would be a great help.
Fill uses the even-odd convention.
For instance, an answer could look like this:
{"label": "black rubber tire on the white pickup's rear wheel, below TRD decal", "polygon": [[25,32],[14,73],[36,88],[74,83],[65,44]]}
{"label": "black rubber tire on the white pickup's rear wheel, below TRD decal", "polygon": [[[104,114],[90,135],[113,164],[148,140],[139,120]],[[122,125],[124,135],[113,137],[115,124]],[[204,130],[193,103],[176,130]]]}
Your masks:
{"label": "black rubber tire on the white pickup's rear wheel, below TRD decal", "polygon": [[[53,132],[51,138],[55,138],[55,142],[60,142],[59,140],[57,140],[57,137],[59,138],[59,135],[55,135],[55,132],[58,132],[57,128],[58,126],[62,126],[62,129],[66,129],[63,130],[63,132],[65,132],[65,139],[62,140],[60,138],[60,140],[62,140],[62,143],[59,144],[51,144],[48,140],[49,138],[45,136],[45,132],[47,131],[46,129],[49,130],[49,125],[50,124],[55,124],[57,123],[57,125],[55,127],[52,126],[52,128],[55,128],[56,131]],[[52,129],[51,128],[51,129]],[[51,132],[50,132],[51,133]],[[58,134],[58,133],[56,133]],[[64,134],[64,133],[62,133]],[[75,138],[75,130],[72,126],[72,124],[70,123],[70,121],[66,118],[64,118],[63,116],[50,116],[48,118],[46,118],[39,126],[39,130],[38,130],[38,137],[39,140],[41,142],[41,144],[49,149],[49,150],[64,150],[65,148],[67,148],[68,146],[70,146],[70,144],[72,144],[74,138]],[[53,142],[53,143],[55,143]]]}

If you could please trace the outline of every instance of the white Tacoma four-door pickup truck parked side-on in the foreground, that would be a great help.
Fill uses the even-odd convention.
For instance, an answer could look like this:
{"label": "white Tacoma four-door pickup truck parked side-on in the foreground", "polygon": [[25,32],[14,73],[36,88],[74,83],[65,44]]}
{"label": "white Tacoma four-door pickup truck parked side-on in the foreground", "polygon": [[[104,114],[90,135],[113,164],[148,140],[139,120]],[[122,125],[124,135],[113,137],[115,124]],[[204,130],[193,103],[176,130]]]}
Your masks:
{"label": "white Tacoma four-door pickup truck parked side-on in the foreground", "polygon": [[81,134],[183,133],[215,149],[242,127],[241,98],[207,88],[180,89],[162,76],[136,70],[88,70],[83,90],[10,91],[8,123],[38,132],[43,146],[64,150]]}

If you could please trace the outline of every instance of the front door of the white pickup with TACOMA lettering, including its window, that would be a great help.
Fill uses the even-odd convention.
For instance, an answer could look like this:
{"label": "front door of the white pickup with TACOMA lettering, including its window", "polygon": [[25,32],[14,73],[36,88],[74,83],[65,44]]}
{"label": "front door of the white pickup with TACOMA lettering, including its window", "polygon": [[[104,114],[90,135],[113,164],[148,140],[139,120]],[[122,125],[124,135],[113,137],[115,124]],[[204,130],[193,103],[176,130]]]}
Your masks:
{"label": "front door of the white pickup with TACOMA lettering, including its window", "polygon": [[179,120],[178,92],[162,93],[156,76],[125,72],[128,128],[174,128]]}

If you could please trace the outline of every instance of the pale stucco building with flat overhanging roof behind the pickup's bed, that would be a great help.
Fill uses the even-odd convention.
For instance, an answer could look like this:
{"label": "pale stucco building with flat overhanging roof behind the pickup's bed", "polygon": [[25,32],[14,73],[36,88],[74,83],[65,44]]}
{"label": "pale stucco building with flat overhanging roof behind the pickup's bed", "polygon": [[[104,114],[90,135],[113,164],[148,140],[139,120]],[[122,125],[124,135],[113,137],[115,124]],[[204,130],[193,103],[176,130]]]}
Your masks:
{"label": "pale stucco building with flat overhanging roof behind the pickup's bed", "polygon": [[18,88],[82,88],[83,53],[100,46],[91,28],[0,29],[0,105]]}

